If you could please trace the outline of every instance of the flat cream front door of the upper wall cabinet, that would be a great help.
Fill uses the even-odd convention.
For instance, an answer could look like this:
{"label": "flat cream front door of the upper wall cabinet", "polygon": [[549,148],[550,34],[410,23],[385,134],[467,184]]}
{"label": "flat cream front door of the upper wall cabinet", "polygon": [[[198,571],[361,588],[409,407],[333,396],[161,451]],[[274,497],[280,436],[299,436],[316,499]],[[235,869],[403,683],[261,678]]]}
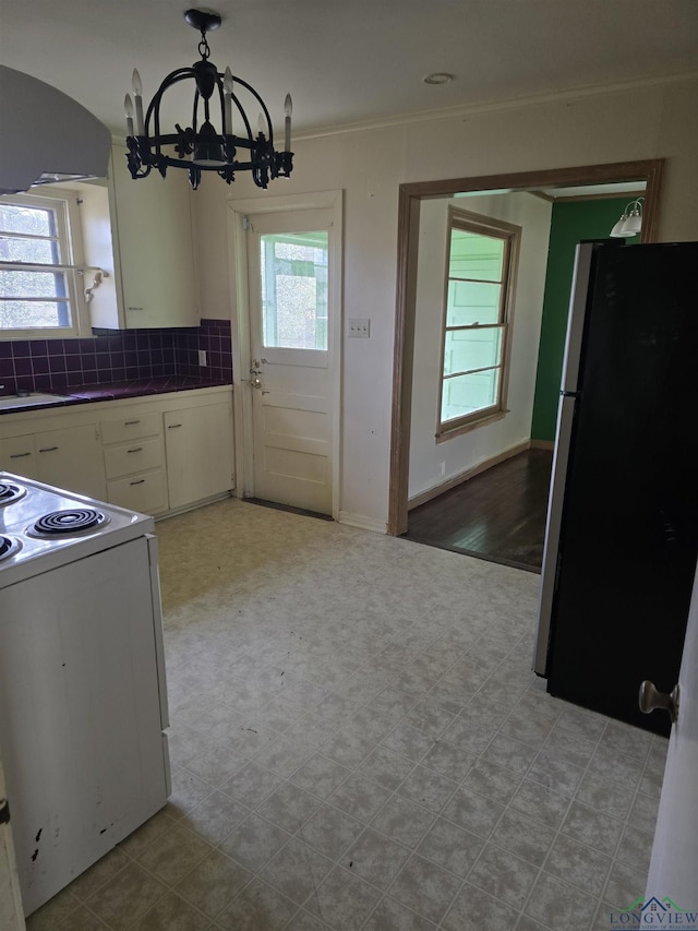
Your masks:
{"label": "flat cream front door of the upper wall cabinet", "polygon": [[127,327],[197,326],[186,171],[134,181],[115,145],[113,183]]}

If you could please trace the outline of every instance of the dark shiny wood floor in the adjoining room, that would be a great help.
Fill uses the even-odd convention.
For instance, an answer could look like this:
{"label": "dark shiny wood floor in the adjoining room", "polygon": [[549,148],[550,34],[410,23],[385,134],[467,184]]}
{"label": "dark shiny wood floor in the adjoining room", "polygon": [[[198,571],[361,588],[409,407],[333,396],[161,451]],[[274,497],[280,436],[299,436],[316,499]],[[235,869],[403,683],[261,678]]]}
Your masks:
{"label": "dark shiny wood floor in the adjoining room", "polygon": [[404,536],[540,572],[552,457],[528,450],[464,481],[410,511]]}

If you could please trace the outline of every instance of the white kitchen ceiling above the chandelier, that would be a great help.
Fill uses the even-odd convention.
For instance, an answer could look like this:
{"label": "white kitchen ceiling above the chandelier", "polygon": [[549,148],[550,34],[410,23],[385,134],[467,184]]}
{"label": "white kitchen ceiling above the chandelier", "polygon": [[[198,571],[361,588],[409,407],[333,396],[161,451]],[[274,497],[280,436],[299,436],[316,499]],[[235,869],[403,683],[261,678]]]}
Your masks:
{"label": "white kitchen ceiling above the chandelier", "polygon": [[[251,83],[280,129],[293,96],[310,133],[408,114],[698,71],[698,0],[210,0],[212,61]],[[124,131],[137,67],[147,100],[197,58],[186,0],[0,0],[0,62]],[[450,72],[445,86],[424,75]],[[190,122],[191,92],[182,124]]]}

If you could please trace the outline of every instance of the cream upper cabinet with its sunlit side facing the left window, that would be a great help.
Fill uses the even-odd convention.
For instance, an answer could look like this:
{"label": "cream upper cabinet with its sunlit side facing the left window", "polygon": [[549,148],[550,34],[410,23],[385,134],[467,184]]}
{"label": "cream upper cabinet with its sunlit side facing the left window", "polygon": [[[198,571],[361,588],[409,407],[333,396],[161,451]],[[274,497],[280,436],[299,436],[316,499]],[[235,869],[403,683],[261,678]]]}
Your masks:
{"label": "cream upper cabinet with its sunlit side facing the left window", "polygon": [[[111,282],[95,290],[92,325],[110,330],[198,326],[188,175],[170,170],[165,179],[152,171],[134,181],[125,153],[125,145],[113,144],[109,184],[113,290]],[[87,261],[106,267],[108,244],[97,235],[100,227],[94,211],[89,198],[83,199]]]}

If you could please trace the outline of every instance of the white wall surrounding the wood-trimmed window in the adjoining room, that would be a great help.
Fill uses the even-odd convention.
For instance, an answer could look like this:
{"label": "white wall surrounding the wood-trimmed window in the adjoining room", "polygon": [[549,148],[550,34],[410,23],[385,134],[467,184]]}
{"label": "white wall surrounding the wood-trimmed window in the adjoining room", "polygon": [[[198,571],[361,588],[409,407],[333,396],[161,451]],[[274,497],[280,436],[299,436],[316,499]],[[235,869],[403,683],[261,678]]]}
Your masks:
{"label": "white wall surrounding the wood-trimmed window in the adjoining room", "polygon": [[[513,302],[507,393],[509,413],[503,420],[436,443],[449,204],[520,226],[521,243]],[[522,192],[441,198],[424,201],[421,205],[410,420],[410,499],[530,438],[551,215],[550,202]]]}

